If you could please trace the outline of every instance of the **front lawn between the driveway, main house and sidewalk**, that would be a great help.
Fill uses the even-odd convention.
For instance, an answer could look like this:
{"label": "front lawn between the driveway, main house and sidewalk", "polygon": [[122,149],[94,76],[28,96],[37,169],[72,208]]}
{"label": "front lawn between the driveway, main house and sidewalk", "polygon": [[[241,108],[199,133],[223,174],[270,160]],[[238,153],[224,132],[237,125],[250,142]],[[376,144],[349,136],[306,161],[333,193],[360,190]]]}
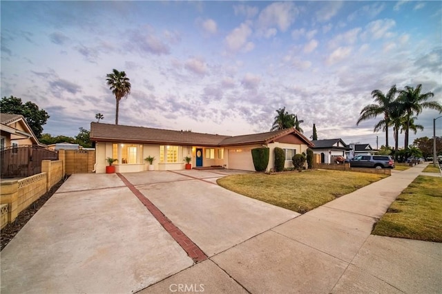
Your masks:
{"label": "front lawn between the driveway, main house and sidewalk", "polygon": [[281,174],[242,174],[218,185],[278,207],[305,213],[335,198],[387,177],[353,171],[315,170]]}

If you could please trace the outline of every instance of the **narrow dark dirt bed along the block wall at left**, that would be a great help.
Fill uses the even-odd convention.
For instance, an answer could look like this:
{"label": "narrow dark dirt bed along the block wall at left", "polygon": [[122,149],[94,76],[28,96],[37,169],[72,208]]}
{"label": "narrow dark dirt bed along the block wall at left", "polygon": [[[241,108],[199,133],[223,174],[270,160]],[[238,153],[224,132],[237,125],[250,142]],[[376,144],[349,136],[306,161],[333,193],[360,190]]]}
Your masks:
{"label": "narrow dark dirt bed along the block wall at left", "polygon": [[64,181],[68,178],[66,176],[63,180],[60,180],[57,182],[57,184],[54,185],[49,191],[47,191],[43,196],[41,196],[38,200],[35,200],[30,206],[21,211],[17,218],[15,219],[15,222],[12,222],[11,224],[6,224],[6,227],[1,229],[0,231],[0,242],[1,242],[1,248],[0,251],[5,248],[5,246],[12,240],[12,238],[19,233],[21,228],[24,227],[24,225],[32,218],[32,216],[43,207],[43,205],[46,203],[46,201],[49,200],[49,198],[54,195],[54,193],[59,189],[59,187],[64,183]]}

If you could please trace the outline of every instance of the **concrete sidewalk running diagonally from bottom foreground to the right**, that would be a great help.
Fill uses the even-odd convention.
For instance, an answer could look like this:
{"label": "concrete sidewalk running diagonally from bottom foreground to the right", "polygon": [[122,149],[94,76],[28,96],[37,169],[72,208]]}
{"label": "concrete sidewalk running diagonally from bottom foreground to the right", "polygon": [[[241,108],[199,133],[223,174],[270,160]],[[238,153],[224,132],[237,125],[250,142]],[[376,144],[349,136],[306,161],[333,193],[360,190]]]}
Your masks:
{"label": "concrete sidewalk running diagonally from bottom foreground to the right", "polygon": [[178,286],[207,293],[439,293],[442,244],[370,235],[425,166],[394,171],[140,293]]}

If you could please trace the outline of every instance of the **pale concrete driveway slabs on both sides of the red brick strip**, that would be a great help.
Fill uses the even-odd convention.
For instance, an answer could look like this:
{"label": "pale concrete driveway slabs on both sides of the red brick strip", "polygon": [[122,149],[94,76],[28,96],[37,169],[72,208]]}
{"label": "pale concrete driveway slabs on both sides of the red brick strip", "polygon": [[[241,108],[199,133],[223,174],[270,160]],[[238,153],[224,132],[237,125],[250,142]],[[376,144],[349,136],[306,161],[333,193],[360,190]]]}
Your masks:
{"label": "pale concrete driveway slabs on both sides of the red brick strip", "polygon": [[[122,176],[211,256],[299,215],[215,184],[238,172]],[[134,293],[194,264],[117,174],[74,174],[1,252],[1,293]]]}

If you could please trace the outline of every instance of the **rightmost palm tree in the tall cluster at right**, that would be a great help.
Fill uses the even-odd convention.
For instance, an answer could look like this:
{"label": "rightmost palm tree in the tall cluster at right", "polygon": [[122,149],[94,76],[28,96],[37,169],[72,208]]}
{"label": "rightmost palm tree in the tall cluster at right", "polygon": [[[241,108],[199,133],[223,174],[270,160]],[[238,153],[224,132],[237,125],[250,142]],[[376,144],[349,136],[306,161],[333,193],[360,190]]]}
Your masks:
{"label": "rightmost palm tree in the tall cluster at right", "polygon": [[412,115],[418,116],[423,109],[435,109],[439,113],[442,112],[442,105],[436,101],[427,101],[428,98],[434,96],[432,92],[421,94],[422,84],[416,86],[416,88],[405,86],[404,90],[399,91],[398,101],[402,103],[403,109],[407,119],[407,125],[405,127],[405,148],[408,147],[408,139],[410,133],[410,123]]}

